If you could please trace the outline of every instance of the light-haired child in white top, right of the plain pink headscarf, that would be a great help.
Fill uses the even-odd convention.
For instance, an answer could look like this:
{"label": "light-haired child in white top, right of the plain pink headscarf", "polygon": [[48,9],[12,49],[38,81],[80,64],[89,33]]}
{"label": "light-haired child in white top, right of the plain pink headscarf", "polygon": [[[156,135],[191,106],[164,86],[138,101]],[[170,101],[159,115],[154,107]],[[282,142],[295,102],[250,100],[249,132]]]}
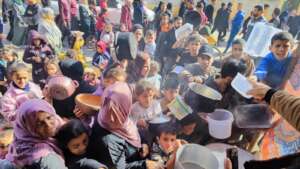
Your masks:
{"label": "light-haired child in white top, right of the plain pink headscarf", "polygon": [[148,122],[161,115],[161,107],[155,97],[155,87],[148,81],[141,80],[135,87],[137,102],[132,105],[131,119],[141,129],[148,128]]}

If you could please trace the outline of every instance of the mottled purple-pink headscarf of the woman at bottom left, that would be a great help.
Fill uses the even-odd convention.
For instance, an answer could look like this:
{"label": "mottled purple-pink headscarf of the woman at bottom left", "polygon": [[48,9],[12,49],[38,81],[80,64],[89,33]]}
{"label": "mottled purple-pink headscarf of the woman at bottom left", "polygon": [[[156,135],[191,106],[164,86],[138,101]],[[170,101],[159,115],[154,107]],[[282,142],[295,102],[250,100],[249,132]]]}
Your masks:
{"label": "mottled purple-pink headscarf of the woman at bottom left", "polygon": [[53,138],[41,138],[36,133],[37,112],[47,112],[54,115],[56,127],[59,128],[63,121],[56,114],[54,108],[46,101],[31,99],[19,107],[14,126],[14,141],[9,147],[6,159],[17,166],[31,165],[49,153],[62,156],[61,150],[56,146]]}

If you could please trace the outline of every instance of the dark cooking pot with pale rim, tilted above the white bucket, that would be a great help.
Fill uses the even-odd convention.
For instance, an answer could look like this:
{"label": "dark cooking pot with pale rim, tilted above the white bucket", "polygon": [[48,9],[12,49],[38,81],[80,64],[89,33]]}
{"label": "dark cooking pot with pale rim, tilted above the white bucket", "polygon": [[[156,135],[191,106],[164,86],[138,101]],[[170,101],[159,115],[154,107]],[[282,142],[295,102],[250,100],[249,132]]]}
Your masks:
{"label": "dark cooking pot with pale rim, tilted above the white bucket", "polygon": [[184,102],[195,113],[212,113],[222,95],[216,90],[199,83],[190,83],[188,91],[184,94]]}

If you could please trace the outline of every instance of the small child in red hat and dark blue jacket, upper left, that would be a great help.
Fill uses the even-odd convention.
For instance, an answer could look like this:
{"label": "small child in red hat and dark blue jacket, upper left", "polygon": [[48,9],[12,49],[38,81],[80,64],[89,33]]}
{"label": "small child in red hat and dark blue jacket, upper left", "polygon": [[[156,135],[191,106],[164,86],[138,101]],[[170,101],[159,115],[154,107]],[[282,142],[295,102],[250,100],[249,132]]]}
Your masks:
{"label": "small child in red hat and dark blue jacket, upper left", "polygon": [[103,71],[107,66],[111,65],[113,60],[109,53],[106,51],[106,43],[103,41],[97,42],[97,52],[93,56],[92,64]]}

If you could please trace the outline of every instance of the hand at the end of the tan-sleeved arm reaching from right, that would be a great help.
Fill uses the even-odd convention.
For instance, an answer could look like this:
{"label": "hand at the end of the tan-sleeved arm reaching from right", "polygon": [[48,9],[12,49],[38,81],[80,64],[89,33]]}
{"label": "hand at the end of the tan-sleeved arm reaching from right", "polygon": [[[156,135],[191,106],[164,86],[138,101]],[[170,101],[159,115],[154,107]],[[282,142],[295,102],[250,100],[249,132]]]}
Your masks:
{"label": "hand at the end of the tan-sleeved arm reaching from right", "polygon": [[260,82],[250,82],[253,88],[250,91],[248,91],[247,94],[253,96],[254,99],[263,100],[267,92],[271,89],[271,87]]}

